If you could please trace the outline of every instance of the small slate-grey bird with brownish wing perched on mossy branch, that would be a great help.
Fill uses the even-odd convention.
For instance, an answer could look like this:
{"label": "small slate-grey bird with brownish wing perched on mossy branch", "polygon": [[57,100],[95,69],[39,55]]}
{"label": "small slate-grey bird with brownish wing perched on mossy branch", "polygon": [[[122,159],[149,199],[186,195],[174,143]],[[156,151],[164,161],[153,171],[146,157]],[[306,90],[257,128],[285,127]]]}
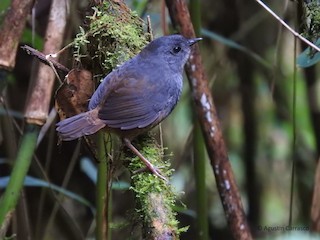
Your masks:
{"label": "small slate-grey bird with brownish wing perched on mossy branch", "polygon": [[102,128],[115,132],[155,175],[159,171],[131,140],[165,119],[182,91],[183,67],[201,38],[170,35],[150,42],[138,55],[108,74],[89,102],[89,111],[62,120],[57,131],[70,141]]}

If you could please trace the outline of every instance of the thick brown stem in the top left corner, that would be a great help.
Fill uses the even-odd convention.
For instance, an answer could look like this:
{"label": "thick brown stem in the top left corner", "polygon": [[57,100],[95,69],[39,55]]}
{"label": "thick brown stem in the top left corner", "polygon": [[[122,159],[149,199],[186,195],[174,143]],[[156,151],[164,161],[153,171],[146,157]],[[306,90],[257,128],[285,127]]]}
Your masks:
{"label": "thick brown stem in the top left corner", "polygon": [[12,70],[16,63],[19,40],[34,0],[12,0],[0,28],[0,68]]}

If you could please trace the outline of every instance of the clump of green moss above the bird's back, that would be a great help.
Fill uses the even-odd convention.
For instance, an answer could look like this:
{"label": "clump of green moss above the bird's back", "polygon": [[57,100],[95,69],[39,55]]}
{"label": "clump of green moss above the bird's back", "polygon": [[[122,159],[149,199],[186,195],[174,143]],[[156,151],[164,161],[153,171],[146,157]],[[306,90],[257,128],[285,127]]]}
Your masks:
{"label": "clump of green moss above the bird's back", "polygon": [[86,29],[80,28],[75,38],[74,58],[91,65],[96,76],[105,76],[136,55],[147,44],[148,34],[142,20],[123,4],[104,1],[92,10]]}

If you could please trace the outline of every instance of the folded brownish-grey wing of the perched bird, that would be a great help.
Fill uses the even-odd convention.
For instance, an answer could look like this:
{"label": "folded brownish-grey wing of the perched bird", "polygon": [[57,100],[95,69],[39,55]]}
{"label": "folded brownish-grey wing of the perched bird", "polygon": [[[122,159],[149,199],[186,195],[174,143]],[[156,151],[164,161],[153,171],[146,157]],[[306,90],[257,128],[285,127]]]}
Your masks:
{"label": "folded brownish-grey wing of the perched bird", "polygon": [[[122,79],[100,106],[99,118],[110,128],[130,130],[145,128],[162,119],[157,86],[143,76]],[[161,119],[160,119],[161,118]]]}

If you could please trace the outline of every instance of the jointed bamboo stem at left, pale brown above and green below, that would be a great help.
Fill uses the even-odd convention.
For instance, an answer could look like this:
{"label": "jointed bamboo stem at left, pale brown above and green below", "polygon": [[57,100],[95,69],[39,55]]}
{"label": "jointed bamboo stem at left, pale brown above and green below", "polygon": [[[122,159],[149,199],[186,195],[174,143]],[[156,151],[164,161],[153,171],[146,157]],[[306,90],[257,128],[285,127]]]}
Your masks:
{"label": "jointed bamboo stem at left, pale brown above and green below", "polygon": [[[14,2],[21,3],[21,1]],[[32,5],[33,1],[30,1],[30,3]],[[66,1],[52,1],[44,44],[45,53],[55,52],[58,50],[64,40],[63,33],[66,26],[67,6],[63,3],[66,3]],[[16,25],[15,22],[12,23],[13,24],[11,25]],[[10,44],[12,43],[10,42]],[[11,49],[12,48],[10,48],[10,50]],[[36,125],[42,125],[46,121],[46,117],[48,115],[54,78],[55,76],[50,68],[46,68],[46,66],[43,68],[40,67],[37,77],[35,78],[35,87],[30,87],[31,95],[26,103],[25,111],[25,117],[28,123],[27,129],[22,138],[9,184],[2,199],[0,200],[1,239],[1,234],[5,234],[6,227],[9,224],[10,216],[16,206],[25,175],[27,174],[31,164],[33,152],[36,149],[37,136],[40,128]]]}

